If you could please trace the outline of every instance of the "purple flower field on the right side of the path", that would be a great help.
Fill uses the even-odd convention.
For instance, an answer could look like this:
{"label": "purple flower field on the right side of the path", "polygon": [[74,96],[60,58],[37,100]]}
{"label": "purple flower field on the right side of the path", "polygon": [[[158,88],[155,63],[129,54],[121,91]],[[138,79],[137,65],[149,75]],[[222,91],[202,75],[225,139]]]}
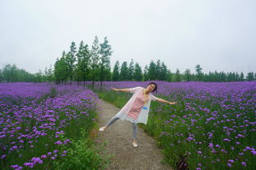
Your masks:
{"label": "purple flower field on the right side of the path", "polygon": [[[117,94],[110,88],[149,82],[104,85]],[[256,169],[256,81],[155,83],[155,96],[177,104],[153,102],[143,128],[157,137],[168,163],[176,167],[187,154],[190,169]]]}

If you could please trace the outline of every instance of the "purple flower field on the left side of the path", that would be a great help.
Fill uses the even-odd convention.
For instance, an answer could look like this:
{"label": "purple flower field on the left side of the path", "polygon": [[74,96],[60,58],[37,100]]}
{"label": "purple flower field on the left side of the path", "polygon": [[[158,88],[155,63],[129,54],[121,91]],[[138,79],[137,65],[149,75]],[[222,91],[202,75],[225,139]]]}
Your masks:
{"label": "purple flower field on the left side of the path", "polygon": [[[55,87],[55,98],[37,102]],[[19,102],[17,102],[17,100]],[[0,84],[0,169],[47,169],[96,123],[97,95],[78,85]],[[65,135],[65,140],[63,137]]]}

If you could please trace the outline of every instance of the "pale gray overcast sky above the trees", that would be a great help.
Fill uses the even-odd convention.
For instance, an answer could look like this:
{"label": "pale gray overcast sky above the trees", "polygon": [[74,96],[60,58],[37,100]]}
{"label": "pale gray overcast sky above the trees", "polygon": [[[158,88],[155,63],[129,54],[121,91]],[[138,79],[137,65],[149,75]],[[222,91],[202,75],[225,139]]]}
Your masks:
{"label": "pale gray overcast sky above the trees", "polygon": [[35,73],[97,35],[110,41],[112,68],[160,59],[171,72],[256,72],[255,9],[254,0],[1,0],[0,67]]}

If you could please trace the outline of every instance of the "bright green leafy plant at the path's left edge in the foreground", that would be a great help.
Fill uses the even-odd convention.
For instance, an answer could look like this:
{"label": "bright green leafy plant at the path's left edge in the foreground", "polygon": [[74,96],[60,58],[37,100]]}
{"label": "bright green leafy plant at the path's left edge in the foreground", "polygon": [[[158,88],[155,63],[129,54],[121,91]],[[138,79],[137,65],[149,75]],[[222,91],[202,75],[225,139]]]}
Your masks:
{"label": "bright green leafy plant at the path's left edge in the foreground", "polygon": [[[61,153],[64,150],[67,154],[60,159],[56,159],[52,164],[52,169],[56,170],[97,170],[105,169],[110,163],[112,155],[101,155],[105,150],[106,142],[96,146],[92,140],[88,138],[85,129],[81,129],[81,138],[72,140],[72,147],[61,147]],[[65,140],[61,134],[61,140]]]}

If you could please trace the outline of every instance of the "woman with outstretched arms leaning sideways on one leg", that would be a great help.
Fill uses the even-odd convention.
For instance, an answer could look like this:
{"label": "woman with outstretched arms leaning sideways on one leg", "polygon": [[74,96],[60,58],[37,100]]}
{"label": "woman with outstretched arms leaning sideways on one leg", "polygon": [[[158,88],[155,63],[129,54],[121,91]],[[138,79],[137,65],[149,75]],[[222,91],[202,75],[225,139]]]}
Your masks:
{"label": "woman with outstretched arms leaning sideways on one leg", "polygon": [[150,92],[157,90],[157,85],[154,82],[150,82],[150,84],[146,86],[146,89],[141,86],[131,89],[111,89],[114,89],[115,91],[130,92],[133,95],[132,98],[130,98],[129,101],[124,105],[124,107],[99,130],[101,132],[104,131],[108,126],[110,126],[110,124],[113,124],[118,119],[128,120],[132,122],[132,145],[134,147],[137,147],[137,123],[146,124],[150,110],[150,101],[156,100],[158,102],[165,102],[171,105],[176,104],[176,102],[168,102],[162,98],[156,98],[153,94],[150,94]]}

